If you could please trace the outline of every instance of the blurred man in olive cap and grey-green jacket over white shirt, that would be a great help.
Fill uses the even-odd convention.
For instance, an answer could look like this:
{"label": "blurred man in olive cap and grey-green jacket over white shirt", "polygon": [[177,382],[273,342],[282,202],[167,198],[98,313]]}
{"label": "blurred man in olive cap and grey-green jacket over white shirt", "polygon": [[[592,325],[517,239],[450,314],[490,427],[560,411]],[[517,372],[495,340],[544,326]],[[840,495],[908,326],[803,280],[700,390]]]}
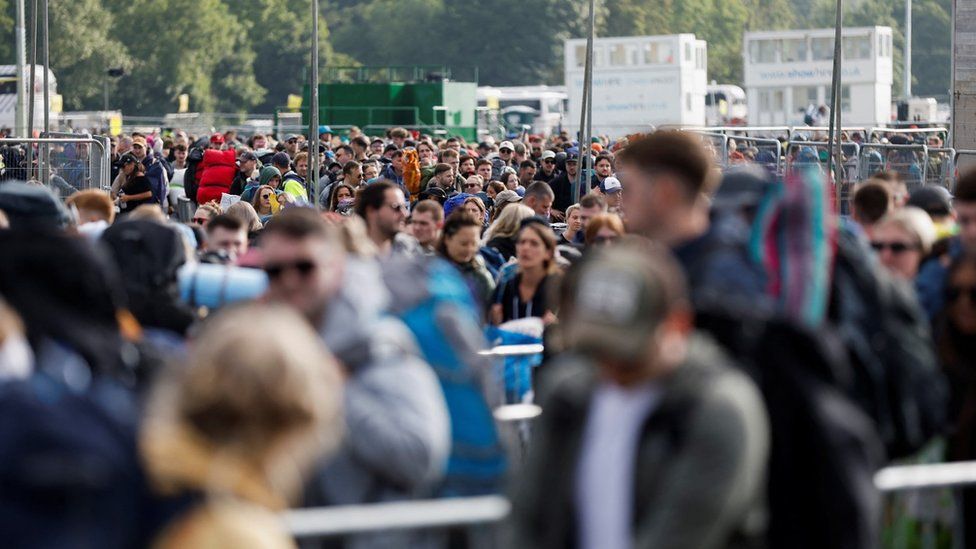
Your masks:
{"label": "blurred man in olive cap and grey-green jacket over white shirt", "polygon": [[621,243],[584,257],[560,294],[570,352],[543,380],[514,546],[707,549],[761,536],[765,408],[693,334],[675,261]]}

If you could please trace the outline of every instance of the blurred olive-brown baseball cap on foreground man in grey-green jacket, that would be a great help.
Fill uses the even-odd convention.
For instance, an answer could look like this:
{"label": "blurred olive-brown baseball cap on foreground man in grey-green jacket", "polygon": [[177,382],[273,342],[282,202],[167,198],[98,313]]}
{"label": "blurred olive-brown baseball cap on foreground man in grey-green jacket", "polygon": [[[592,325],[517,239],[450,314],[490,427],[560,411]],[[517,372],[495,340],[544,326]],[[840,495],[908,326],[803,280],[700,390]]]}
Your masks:
{"label": "blurred olive-brown baseball cap on foreground man in grey-green jacket", "polygon": [[675,260],[646,241],[587,253],[564,283],[572,304],[560,314],[564,340],[580,352],[627,361],[645,357],[655,330],[687,298]]}

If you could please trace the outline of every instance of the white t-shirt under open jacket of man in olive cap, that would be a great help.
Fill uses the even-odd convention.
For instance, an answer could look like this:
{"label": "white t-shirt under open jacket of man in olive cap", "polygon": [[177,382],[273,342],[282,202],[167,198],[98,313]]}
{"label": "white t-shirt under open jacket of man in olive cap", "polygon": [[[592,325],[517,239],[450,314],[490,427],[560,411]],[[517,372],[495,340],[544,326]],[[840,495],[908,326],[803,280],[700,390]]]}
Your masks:
{"label": "white t-shirt under open jacket of man in olive cap", "polygon": [[660,387],[653,383],[632,388],[602,383],[593,394],[574,494],[581,549],[632,546],[638,437],[660,396]]}

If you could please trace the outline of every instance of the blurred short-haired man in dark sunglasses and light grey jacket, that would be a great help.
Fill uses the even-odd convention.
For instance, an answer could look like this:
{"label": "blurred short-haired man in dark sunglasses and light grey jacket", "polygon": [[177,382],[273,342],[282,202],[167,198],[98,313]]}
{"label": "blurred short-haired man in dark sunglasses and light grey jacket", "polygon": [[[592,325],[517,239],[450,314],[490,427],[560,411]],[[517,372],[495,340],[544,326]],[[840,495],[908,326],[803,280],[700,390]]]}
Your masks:
{"label": "blurred short-haired man in dark sunglasses and light grey jacket", "polygon": [[[377,310],[375,300],[361,299],[360,292],[387,291],[381,274],[370,263],[347,261],[338,230],[308,208],[276,216],[261,248],[266,298],[304,314],[347,376],[346,436],[306,485],[306,503],[365,504],[429,493],[443,474],[450,420],[440,384],[417,357],[409,330]],[[409,544],[394,539],[368,546]]]}

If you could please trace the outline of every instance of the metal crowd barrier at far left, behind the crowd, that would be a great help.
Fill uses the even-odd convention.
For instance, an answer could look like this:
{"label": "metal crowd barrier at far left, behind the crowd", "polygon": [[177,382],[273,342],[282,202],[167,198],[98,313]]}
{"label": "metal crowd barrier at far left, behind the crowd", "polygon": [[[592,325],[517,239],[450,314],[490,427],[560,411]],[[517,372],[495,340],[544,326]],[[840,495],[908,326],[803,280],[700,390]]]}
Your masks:
{"label": "metal crowd barrier at far left, behind the crowd", "polygon": [[[27,166],[22,145],[36,148],[36,166]],[[105,188],[112,184],[108,138],[4,138],[0,139],[0,148],[6,149],[4,179],[37,179],[62,198],[79,190]]]}

